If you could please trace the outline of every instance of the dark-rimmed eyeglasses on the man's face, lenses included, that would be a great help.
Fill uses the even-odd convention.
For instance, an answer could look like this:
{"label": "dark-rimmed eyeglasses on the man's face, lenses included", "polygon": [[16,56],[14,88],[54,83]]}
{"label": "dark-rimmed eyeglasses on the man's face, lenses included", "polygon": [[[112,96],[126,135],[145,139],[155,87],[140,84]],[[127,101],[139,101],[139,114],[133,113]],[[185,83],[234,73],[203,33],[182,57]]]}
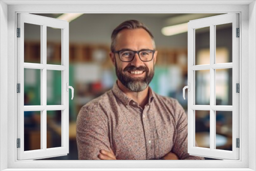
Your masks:
{"label": "dark-rimmed eyeglasses on the man's face, lenses included", "polygon": [[141,61],[148,62],[153,59],[155,50],[140,50],[140,51],[121,50],[121,51],[113,51],[113,53],[118,53],[119,59],[123,62],[132,61],[136,53],[139,55],[139,58]]}

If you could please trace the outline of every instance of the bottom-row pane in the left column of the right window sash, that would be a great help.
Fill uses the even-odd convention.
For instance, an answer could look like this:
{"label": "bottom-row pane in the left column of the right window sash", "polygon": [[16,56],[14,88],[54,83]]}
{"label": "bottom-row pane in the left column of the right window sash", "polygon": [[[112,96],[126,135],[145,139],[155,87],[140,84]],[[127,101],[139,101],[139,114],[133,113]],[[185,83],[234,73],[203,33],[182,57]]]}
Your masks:
{"label": "bottom-row pane in the left column of the right window sash", "polygon": [[199,147],[210,147],[210,111],[195,111],[196,142]]}

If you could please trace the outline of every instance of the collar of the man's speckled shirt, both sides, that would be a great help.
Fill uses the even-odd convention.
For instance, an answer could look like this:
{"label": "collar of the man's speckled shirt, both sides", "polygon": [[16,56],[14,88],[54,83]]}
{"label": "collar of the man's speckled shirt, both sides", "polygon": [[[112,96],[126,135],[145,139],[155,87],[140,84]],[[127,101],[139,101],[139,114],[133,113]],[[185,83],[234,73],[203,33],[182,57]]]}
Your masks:
{"label": "collar of the man's speckled shirt, both sides", "polygon": [[[155,92],[152,91],[150,87],[149,88],[149,93],[150,95],[148,96],[149,98],[149,103],[152,102],[152,100],[155,98]],[[121,89],[117,85],[117,81],[114,83],[113,89],[112,89],[114,95],[124,104],[124,105],[129,105],[131,101],[134,101],[132,98],[128,97],[125,93],[121,91]]]}

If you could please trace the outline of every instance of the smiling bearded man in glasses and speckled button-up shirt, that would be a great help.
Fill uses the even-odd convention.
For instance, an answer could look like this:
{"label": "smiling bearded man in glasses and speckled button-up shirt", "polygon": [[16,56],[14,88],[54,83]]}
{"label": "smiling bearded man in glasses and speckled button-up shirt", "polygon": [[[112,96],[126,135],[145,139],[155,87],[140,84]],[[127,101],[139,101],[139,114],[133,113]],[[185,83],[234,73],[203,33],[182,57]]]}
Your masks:
{"label": "smiling bearded man in glasses and speckled button-up shirt", "polygon": [[157,59],[155,41],[138,20],[111,35],[113,89],[84,105],[77,117],[80,160],[202,160],[187,153],[187,117],[176,99],[148,86]]}

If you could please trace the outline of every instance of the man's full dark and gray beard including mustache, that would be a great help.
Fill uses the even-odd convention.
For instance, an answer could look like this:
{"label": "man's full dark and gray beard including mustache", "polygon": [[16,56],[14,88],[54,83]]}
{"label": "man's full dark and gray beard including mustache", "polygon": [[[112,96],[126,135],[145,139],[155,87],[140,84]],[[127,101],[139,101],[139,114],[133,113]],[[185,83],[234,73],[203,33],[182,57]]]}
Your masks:
{"label": "man's full dark and gray beard including mustache", "polygon": [[[155,65],[153,66],[153,70],[149,70],[145,66],[140,66],[140,67],[134,67],[134,66],[127,66],[123,69],[118,68],[117,64],[115,63],[116,67],[116,75],[119,81],[129,90],[133,92],[141,92],[145,90],[150,84],[151,80],[154,77],[155,74]],[[123,73],[126,71],[144,71],[145,76],[144,77],[130,77],[129,75]]]}

